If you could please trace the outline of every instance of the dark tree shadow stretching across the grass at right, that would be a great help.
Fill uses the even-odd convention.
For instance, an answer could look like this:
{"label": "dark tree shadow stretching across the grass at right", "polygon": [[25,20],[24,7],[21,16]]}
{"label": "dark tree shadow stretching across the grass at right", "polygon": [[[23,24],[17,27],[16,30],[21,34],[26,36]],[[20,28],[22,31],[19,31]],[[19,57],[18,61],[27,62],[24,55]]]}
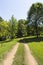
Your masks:
{"label": "dark tree shadow stretching across the grass at right", "polygon": [[29,43],[29,42],[40,42],[40,41],[43,41],[43,37],[23,38],[23,39],[20,39],[18,42],[20,42],[20,43]]}

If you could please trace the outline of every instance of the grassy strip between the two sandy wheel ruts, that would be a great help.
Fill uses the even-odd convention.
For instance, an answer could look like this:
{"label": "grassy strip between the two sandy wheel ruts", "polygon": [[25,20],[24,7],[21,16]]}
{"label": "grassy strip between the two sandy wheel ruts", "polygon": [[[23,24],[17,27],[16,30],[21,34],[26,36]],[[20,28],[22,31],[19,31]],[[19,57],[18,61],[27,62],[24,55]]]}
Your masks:
{"label": "grassy strip between the two sandy wheel ruts", "polygon": [[18,47],[17,53],[15,55],[12,65],[25,65],[24,62],[24,45],[21,43]]}

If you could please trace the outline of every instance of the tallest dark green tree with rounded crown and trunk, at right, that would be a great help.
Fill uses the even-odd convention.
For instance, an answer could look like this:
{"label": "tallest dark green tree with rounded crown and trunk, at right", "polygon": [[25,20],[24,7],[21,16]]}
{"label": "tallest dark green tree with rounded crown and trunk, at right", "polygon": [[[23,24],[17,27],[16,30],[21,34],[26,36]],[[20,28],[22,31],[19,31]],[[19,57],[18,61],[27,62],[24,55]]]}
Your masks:
{"label": "tallest dark green tree with rounded crown and trunk, at right", "polygon": [[27,20],[29,21],[28,24],[34,28],[37,38],[39,36],[38,25],[42,22],[41,20],[39,21],[39,19],[42,17],[43,17],[43,4],[42,3],[32,4],[30,11],[28,12]]}

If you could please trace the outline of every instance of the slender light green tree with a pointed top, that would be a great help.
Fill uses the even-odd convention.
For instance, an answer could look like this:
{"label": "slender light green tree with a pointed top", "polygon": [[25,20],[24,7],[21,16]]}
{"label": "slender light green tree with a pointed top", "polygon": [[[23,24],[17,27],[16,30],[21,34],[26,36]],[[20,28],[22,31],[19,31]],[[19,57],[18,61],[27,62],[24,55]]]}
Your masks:
{"label": "slender light green tree with a pointed top", "polygon": [[12,15],[10,20],[10,33],[11,33],[11,39],[16,36],[17,33],[17,20]]}

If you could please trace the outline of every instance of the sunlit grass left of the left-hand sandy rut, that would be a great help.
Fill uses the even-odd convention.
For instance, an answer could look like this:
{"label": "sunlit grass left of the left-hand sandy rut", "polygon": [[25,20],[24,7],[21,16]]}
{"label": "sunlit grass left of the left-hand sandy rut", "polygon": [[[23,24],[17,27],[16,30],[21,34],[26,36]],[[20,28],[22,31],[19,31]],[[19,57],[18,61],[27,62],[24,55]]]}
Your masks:
{"label": "sunlit grass left of the left-hand sandy rut", "polygon": [[7,52],[10,51],[12,46],[16,44],[16,42],[16,39],[13,39],[10,42],[0,42],[0,63],[3,61]]}

